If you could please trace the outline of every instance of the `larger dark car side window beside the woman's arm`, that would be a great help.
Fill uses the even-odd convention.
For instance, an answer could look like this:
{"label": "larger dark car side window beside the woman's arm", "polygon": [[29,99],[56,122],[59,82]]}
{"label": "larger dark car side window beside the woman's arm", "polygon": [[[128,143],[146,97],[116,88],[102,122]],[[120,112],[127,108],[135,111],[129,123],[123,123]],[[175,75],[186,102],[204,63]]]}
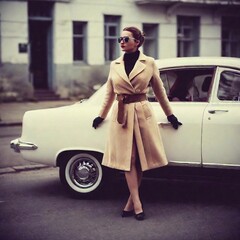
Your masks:
{"label": "larger dark car side window beside the woman's arm", "polygon": [[[215,68],[176,68],[160,71],[168,99],[181,102],[206,102]],[[149,101],[156,101],[150,88]]]}

